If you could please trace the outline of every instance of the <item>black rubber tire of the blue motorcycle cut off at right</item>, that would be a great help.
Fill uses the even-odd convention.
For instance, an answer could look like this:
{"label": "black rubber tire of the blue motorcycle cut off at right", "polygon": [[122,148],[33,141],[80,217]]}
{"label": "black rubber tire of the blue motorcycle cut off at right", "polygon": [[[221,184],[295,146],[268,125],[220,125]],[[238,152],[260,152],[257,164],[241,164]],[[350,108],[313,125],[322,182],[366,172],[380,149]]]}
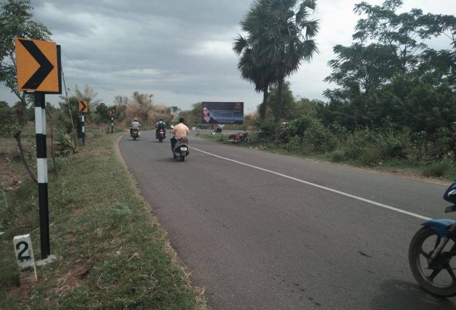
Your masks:
{"label": "black rubber tire of the blue motorcycle cut off at right", "polygon": [[[423,255],[425,253],[427,256],[429,256],[433,251],[426,253],[423,250],[423,244],[425,241],[430,238],[435,236],[436,238],[438,237],[437,233],[434,232],[430,227],[423,227],[420,229],[417,233],[412,238],[412,241],[410,242],[410,247],[408,250],[408,262],[410,264],[410,269],[412,270],[412,274],[415,277],[415,280],[420,284],[421,287],[423,287],[425,290],[427,290],[429,293],[441,296],[441,297],[452,297],[456,296],[456,279],[451,276],[450,271],[446,269],[441,269],[440,271],[433,271],[431,272],[430,275],[427,275],[425,273],[425,270],[423,269],[423,266],[421,264],[421,258],[427,258],[426,256]],[[437,238],[437,240],[440,240]],[[451,241],[450,241],[451,242]],[[436,242],[437,243],[437,242]],[[434,246],[434,249],[437,247],[438,244]],[[450,260],[451,263],[451,260]],[[455,264],[453,262],[453,264]],[[453,266],[454,267],[454,266]],[[427,269],[427,268],[426,268]],[[451,272],[454,274],[453,269],[451,269]],[[435,284],[434,279],[440,272],[445,272],[447,275],[451,278],[453,278],[453,282],[449,285],[440,285],[440,284]],[[430,271],[428,270],[428,273]],[[435,273],[434,277],[432,275]]]}

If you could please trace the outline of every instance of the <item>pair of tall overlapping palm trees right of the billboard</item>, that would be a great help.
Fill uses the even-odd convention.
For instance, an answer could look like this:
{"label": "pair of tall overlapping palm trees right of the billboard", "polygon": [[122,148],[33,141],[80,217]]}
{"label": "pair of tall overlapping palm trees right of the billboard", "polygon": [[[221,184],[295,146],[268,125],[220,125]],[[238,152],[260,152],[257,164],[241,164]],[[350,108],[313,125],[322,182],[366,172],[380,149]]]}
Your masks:
{"label": "pair of tall overlapping palm trees right of the billboard", "polygon": [[319,25],[309,16],[316,8],[314,0],[257,0],[244,20],[233,50],[240,55],[241,77],[255,84],[256,91],[265,94],[259,113],[265,120],[268,86],[277,82],[275,119],[282,117],[284,78],[298,70],[303,61],[310,61],[318,52],[314,37]]}

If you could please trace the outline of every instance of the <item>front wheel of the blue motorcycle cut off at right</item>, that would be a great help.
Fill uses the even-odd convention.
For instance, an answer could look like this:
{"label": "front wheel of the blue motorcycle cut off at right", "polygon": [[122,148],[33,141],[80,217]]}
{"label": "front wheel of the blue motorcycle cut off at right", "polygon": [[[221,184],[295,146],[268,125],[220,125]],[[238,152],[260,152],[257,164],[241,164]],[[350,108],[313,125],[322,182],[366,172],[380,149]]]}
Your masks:
{"label": "front wheel of the blue motorcycle cut off at right", "polygon": [[431,266],[428,258],[442,239],[430,227],[423,227],[412,238],[408,250],[408,261],[418,284],[429,293],[441,296],[456,296],[456,250],[454,241],[449,240]]}

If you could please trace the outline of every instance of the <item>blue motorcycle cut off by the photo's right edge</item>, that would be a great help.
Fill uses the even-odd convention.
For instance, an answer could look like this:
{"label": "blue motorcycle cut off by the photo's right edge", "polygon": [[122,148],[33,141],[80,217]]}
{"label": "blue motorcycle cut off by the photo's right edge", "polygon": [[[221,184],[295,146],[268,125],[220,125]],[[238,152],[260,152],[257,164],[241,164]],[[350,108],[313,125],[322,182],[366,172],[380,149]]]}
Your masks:
{"label": "blue motorcycle cut off by the photo's right edge", "polygon": [[[443,199],[454,204],[445,213],[456,211],[456,181]],[[415,280],[429,293],[441,297],[456,296],[456,221],[434,219],[422,224],[413,236],[408,260]]]}

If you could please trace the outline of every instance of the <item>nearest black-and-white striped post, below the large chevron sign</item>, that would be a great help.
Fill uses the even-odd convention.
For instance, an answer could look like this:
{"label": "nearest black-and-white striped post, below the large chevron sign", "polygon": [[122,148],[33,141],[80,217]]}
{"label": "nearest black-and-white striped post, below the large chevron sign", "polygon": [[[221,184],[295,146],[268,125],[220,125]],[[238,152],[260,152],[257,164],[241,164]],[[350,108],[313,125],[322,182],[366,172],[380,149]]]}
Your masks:
{"label": "nearest black-and-white striped post, below the large chevron sign", "polygon": [[36,167],[40,213],[41,259],[51,254],[49,247],[48,159],[46,152],[46,102],[44,93],[35,92]]}

